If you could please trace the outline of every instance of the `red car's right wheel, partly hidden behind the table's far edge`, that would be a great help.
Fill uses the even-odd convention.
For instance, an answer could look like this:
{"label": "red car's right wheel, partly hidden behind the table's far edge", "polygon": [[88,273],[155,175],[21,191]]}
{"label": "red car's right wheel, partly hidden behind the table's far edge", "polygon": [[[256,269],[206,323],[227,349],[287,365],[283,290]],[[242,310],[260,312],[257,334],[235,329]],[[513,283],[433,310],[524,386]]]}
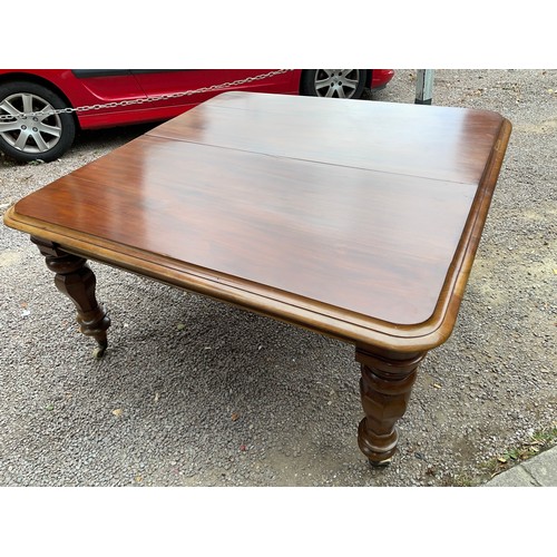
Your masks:
{"label": "red car's right wheel, partly hidden behind the table's far edge", "polygon": [[361,98],[367,70],[315,69],[303,70],[300,92],[312,97]]}

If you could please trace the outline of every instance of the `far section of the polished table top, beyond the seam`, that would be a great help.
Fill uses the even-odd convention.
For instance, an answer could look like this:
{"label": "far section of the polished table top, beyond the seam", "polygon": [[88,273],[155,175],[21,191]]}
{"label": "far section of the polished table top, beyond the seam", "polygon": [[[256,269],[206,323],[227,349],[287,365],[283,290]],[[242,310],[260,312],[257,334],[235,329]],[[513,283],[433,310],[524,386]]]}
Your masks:
{"label": "far section of the polished table top, beyond the seam", "polygon": [[[250,153],[478,183],[502,118],[398,102],[231,92],[148,133]],[[240,113],[240,114],[238,114]]]}

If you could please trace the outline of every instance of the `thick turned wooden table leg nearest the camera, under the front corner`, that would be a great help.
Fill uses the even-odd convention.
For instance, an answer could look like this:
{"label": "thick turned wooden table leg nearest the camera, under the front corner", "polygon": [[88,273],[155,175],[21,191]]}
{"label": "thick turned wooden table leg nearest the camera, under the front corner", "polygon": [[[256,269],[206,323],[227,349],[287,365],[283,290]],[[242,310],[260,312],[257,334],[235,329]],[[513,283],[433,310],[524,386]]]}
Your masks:
{"label": "thick turned wooden table leg nearest the camera, under the front corner", "polygon": [[358,429],[358,444],[373,466],[388,465],[397,450],[394,424],[407,411],[418,365],[424,356],[426,352],[404,354],[356,348],[365,412]]}

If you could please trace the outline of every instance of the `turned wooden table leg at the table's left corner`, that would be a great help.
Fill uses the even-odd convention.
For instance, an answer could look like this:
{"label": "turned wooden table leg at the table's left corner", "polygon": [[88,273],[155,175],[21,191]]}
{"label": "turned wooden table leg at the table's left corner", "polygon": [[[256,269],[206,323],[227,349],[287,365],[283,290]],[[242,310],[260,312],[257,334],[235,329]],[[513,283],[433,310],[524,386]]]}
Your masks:
{"label": "turned wooden table leg at the table's left corner", "polygon": [[94,352],[95,355],[102,356],[108,346],[106,331],[110,326],[110,320],[99,307],[95,297],[97,281],[87,261],[65,252],[52,242],[36,237],[31,237],[31,242],[45,256],[47,267],[56,273],[57,289],[77,307],[77,322],[80,331],[97,341],[98,348]]}

